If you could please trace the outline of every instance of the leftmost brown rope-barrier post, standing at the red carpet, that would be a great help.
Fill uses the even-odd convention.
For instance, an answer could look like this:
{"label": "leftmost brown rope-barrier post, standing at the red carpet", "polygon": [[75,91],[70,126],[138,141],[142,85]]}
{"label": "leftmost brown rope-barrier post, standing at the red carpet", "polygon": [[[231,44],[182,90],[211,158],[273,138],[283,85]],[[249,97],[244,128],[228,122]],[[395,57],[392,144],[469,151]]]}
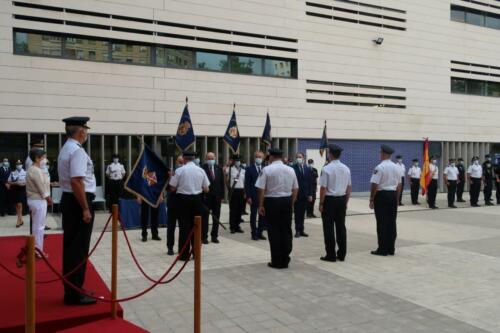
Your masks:
{"label": "leftmost brown rope-barrier post, standing at the red carpet", "polygon": [[35,236],[26,239],[26,333],[35,333]]}

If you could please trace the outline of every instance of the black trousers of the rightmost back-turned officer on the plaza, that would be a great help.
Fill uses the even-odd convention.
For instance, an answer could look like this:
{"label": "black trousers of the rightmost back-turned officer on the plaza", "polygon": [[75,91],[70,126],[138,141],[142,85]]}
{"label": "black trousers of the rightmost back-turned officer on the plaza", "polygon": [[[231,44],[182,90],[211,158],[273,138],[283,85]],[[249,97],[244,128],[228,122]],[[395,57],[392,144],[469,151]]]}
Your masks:
{"label": "black trousers of the rightmost back-turned officer on the plaza", "polygon": [[396,191],[378,191],[374,199],[377,219],[378,250],[394,252],[397,228],[398,198]]}

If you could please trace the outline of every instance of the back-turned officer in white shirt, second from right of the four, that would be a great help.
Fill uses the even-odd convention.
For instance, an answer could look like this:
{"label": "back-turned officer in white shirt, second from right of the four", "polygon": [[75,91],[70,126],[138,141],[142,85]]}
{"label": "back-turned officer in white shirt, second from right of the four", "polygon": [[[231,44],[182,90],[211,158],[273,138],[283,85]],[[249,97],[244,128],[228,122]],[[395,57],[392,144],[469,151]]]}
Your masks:
{"label": "back-turned officer in white shirt, second from right of the four", "polygon": [[[337,145],[328,146],[328,160],[331,162],[323,168],[319,178],[321,186],[319,211],[323,220],[326,250],[326,255],[320,259],[331,262],[337,259],[344,261],[347,251],[345,215],[352,183],[351,170],[339,160],[342,150]],[[335,252],[335,235],[337,236],[337,252]]]}

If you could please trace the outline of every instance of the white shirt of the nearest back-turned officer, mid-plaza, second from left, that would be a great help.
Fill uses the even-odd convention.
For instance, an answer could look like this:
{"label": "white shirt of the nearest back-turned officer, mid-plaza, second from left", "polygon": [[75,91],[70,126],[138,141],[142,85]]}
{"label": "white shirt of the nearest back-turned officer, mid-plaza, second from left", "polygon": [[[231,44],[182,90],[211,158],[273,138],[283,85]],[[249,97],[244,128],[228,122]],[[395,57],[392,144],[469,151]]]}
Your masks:
{"label": "white shirt of the nearest back-turned officer, mid-plaza, second from left", "polygon": [[282,198],[291,196],[292,190],[299,188],[299,182],[292,168],[282,161],[274,161],[262,169],[255,187],[264,190],[266,198]]}

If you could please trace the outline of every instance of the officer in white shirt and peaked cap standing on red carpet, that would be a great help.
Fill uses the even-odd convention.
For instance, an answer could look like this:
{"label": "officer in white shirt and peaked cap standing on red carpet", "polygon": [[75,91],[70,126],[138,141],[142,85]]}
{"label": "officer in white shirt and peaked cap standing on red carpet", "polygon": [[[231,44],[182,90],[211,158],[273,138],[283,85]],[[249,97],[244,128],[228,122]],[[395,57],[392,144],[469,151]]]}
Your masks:
{"label": "officer in white shirt and peaked cap standing on red carpet", "polygon": [[[63,275],[74,270],[88,255],[94,210],[96,180],[92,160],[82,147],[87,141],[88,117],[63,119],[68,139],[58,157],[59,185],[63,191],[61,212],[63,225]],[[67,279],[82,288],[85,283],[85,269],[82,265]],[[67,305],[88,305],[94,298],[80,294],[64,284],[64,303]]]}

